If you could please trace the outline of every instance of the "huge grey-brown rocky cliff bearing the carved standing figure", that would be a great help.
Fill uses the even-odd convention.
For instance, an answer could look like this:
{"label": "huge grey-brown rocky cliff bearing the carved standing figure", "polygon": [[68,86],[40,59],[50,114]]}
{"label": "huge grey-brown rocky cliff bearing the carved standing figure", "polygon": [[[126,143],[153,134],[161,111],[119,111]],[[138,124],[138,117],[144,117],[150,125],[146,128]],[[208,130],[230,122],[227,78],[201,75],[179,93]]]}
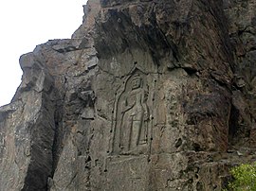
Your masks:
{"label": "huge grey-brown rocky cliff bearing the carved standing figure", "polygon": [[89,0],[20,59],[0,190],[221,190],[255,160],[255,0]]}

